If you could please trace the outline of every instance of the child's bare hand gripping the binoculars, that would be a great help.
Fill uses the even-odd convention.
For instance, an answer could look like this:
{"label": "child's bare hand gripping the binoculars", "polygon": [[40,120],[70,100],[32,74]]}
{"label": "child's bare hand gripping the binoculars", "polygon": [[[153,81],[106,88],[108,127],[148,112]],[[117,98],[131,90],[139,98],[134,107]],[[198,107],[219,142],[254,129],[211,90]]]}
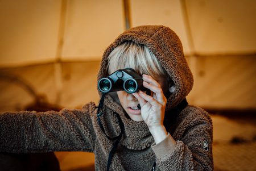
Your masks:
{"label": "child's bare hand gripping the binoculars", "polygon": [[151,76],[143,74],[142,77],[143,86],[152,91],[152,96],[142,91],[133,94],[141,105],[142,119],[147,124],[152,135],[158,134],[159,130],[165,131],[166,133],[163,126],[163,119],[167,99],[164,96],[162,87],[159,82],[155,81]]}

